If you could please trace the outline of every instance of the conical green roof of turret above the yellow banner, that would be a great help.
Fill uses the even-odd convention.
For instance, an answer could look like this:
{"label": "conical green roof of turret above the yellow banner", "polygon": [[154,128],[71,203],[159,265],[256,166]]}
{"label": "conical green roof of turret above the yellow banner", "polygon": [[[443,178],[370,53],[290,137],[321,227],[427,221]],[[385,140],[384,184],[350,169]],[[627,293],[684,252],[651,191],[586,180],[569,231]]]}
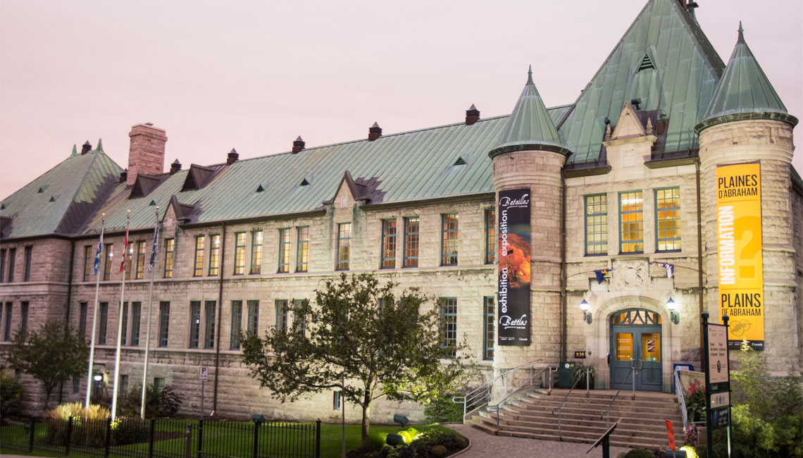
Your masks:
{"label": "conical green roof of turret above the yellow banner", "polygon": [[736,121],[744,118],[744,115],[756,118],[756,113],[762,113],[760,117],[797,124],[794,117],[783,116],[787,114],[786,107],[744,41],[744,30],[739,22],[739,38],[728,67],[725,67],[722,80],[716,86],[703,122],[695,129],[699,131],[719,122]]}

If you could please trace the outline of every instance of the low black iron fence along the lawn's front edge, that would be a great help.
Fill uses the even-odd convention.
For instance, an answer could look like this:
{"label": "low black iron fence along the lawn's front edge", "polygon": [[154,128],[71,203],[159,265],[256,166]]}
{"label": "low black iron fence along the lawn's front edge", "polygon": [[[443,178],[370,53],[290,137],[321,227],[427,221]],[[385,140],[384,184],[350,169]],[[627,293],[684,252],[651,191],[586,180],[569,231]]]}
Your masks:
{"label": "low black iron fence along the lawn's front edge", "polygon": [[320,420],[3,418],[0,447],[103,458],[320,458]]}

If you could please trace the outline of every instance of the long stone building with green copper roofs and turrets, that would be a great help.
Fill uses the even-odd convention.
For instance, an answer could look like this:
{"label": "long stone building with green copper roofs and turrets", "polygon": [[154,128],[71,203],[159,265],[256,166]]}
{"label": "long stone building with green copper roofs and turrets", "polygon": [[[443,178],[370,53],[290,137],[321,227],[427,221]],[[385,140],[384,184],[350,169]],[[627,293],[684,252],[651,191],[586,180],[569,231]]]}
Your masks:
{"label": "long stone building with green copper roofs and turrets", "polygon": [[[375,271],[438,296],[444,339],[465,335],[487,376],[577,359],[597,368],[599,388],[620,386],[636,367],[637,389],[670,391],[674,364],[700,367],[703,311],[713,321],[732,314],[732,343],[748,338],[777,374],[800,370],[797,119],[741,28],[726,65],[693,8],[649,0],[577,100],[546,108],[537,78],[531,72],[509,116],[483,119],[472,105],[458,124],[395,134],[375,124],[357,141],[307,148],[299,137],[287,153],[239,159],[232,150],[226,162],[175,161],[166,173],[167,136],[153,125],[132,127],[127,169],[100,141],[74,149],[2,200],[0,341],[47,319],[89,337],[97,281],[95,371],[115,374],[122,319],[122,388],[141,380],[150,316],[149,382],[183,392],[185,413],[199,411],[198,367],[208,366],[206,414],[326,418],[336,415],[332,393],[280,405],[260,391],[234,336],[286,326],[292,302],[312,298],[326,278]],[[719,186],[734,165],[758,170],[742,185],[756,180],[744,192],[760,206],[736,235],[719,202],[737,192]],[[508,322],[497,304],[498,196],[508,190],[527,191],[530,215],[530,242],[520,245],[527,344],[516,346],[499,345]],[[749,309],[748,293],[732,302],[724,292],[733,243],[740,275],[759,274]],[[83,399],[86,382],[64,386],[61,398]]]}

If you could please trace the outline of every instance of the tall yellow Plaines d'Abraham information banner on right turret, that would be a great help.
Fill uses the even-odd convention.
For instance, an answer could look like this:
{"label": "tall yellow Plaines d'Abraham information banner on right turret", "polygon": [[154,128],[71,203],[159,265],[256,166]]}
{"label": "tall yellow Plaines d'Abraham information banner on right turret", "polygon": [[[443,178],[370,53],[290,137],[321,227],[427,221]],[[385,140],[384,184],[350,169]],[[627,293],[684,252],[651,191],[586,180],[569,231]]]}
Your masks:
{"label": "tall yellow Plaines d'Abraham information banner on right turret", "polygon": [[764,350],[759,163],[717,167],[716,228],[719,312],[731,317],[728,347],[747,339]]}

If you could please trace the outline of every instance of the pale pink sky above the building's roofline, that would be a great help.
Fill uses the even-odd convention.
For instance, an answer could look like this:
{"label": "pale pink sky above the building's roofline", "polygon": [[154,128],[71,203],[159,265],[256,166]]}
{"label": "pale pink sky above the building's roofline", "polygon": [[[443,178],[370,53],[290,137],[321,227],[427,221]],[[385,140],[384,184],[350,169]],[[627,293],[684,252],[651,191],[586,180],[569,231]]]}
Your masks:
{"label": "pale pink sky above the building's roofline", "polygon": [[[103,138],[167,130],[165,165],[509,113],[532,63],[547,106],[570,104],[646,0],[442,2],[0,2],[0,197]],[[745,37],[803,117],[800,0],[698,0],[727,62]],[[801,127],[795,132],[800,136]],[[803,153],[793,159],[803,172]]]}

